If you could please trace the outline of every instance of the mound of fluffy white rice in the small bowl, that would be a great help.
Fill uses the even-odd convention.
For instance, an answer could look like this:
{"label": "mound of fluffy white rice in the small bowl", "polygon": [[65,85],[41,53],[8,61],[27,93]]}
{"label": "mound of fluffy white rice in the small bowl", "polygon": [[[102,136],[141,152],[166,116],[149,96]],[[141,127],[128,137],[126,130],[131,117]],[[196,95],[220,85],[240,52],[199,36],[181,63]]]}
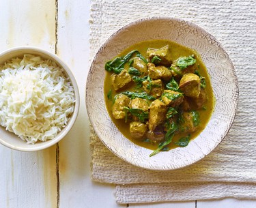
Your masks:
{"label": "mound of fluffy white rice in the small bowl", "polygon": [[0,66],[0,125],[27,143],[55,138],[74,102],[70,80],[51,60],[24,55]]}

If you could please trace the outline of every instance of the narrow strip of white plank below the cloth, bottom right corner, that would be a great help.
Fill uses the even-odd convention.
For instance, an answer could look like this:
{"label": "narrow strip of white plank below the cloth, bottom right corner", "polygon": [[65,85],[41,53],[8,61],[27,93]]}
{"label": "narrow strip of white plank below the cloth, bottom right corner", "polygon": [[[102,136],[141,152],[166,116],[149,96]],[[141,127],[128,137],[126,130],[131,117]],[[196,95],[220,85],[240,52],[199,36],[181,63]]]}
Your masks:
{"label": "narrow strip of white plank below the cloth, bottom right corner", "polygon": [[[248,190],[249,191],[249,190]],[[255,208],[256,200],[225,198],[223,200],[197,200],[197,208]]]}

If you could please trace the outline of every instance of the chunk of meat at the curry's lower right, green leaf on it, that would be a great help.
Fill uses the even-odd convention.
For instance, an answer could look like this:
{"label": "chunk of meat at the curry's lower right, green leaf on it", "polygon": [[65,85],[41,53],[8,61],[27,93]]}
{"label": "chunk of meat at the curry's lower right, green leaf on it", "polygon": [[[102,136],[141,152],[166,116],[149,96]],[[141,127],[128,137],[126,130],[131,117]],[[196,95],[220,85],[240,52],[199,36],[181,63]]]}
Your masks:
{"label": "chunk of meat at the curry's lower right, green leaf on it", "polygon": [[195,132],[199,125],[199,115],[197,111],[184,111],[180,115],[180,131]]}

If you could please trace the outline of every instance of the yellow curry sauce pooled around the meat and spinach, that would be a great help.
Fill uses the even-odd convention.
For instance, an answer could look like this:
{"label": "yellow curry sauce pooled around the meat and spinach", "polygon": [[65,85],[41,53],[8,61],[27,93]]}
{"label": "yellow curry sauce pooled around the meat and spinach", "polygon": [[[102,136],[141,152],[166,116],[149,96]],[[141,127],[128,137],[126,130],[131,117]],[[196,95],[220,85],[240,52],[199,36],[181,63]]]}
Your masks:
{"label": "yellow curry sauce pooled around the meat and spinach", "polygon": [[[132,50],[139,50],[139,53],[141,53],[141,55],[145,57],[145,59],[147,59],[148,48],[162,48],[166,45],[169,45],[169,50],[171,52],[171,59],[173,61],[178,59],[179,57],[188,57],[190,55],[194,55],[196,59],[195,64],[197,65],[198,71],[200,75],[205,79],[205,84],[206,84],[205,92],[207,94],[207,101],[205,102],[205,104],[203,104],[203,108],[199,110],[197,109],[200,122],[199,122],[199,125],[197,126],[197,130],[195,132],[190,133],[190,140],[191,140],[195,138],[197,135],[199,135],[200,132],[205,128],[205,126],[207,125],[210,119],[210,116],[212,115],[212,111],[214,108],[214,95],[212,91],[212,86],[210,84],[210,77],[208,75],[207,69],[205,68],[205,65],[201,61],[199,54],[195,50],[192,50],[190,48],[187,48],[175,42],[171,42],[168,40],[150,40],[150,41],[140,42],[138,44],[134,44],[133,46],[130,46],[129,48],[126,48],[126,50],[122,51],[122,53],[120,53],[118,57],[124,57]],[[128,68],[129,68],[129,65],[126,63],[124,65],[124,69],[128,70]],[[112,107],[113,107],[113,98],[115,97],[115,95],[117,95],[118,93],[121,93],[122,91],[136,91],[137,84],[134,82],[131,82],[130,85],[128,85],[127,87],[116,92],[115,89],[113,88],[113,85],[111,84],[112,74],[113,72],[106,72],[106,77],[104,80],[104,98],[105,98],[106,108],[109,112],[109,116],[111,117],[113,123],[115,123],[119,131],[122,132],[122,134],[124,134],[124,136],[126,136],[126,138],[131,140],[133,143],[141,147],[145,147],[147,149],[152,149],[152,150],[157,149],[159,145],[158,143],[151,143],[147,139],[138,140],[137,138],[132,138],[129,132],[130,121],[125,121],[125,119],[115,119],[113,117]],[[107,96],[110,90],[111,90],[112,99],[109,99]],[[152,101],[148,100],[147,102],[150,104]],[[169,147],[169,149],[179,147],[175,143],[177,143],[177,141],[180,138],[187,135],[188,135],[187,132],[178,132],[173,136],[171,143],[167,145],[167,147]]]}

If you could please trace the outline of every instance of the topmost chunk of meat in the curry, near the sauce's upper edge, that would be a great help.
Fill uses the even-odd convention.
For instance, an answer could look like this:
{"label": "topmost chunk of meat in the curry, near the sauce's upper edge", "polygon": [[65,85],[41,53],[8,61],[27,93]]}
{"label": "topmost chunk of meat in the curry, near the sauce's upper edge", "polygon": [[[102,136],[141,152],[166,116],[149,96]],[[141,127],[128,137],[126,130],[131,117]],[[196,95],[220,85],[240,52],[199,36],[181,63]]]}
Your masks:
{"label": "topmost chunk of meat in the curry, near the sauce's upper edge", "polygon": [[169,45],[166,45],[162,48],[148,48],[147,57],[152,60],[153,57],[158,57],[161,59],[159,65],[170,66],[171,65],[171,51]]}

